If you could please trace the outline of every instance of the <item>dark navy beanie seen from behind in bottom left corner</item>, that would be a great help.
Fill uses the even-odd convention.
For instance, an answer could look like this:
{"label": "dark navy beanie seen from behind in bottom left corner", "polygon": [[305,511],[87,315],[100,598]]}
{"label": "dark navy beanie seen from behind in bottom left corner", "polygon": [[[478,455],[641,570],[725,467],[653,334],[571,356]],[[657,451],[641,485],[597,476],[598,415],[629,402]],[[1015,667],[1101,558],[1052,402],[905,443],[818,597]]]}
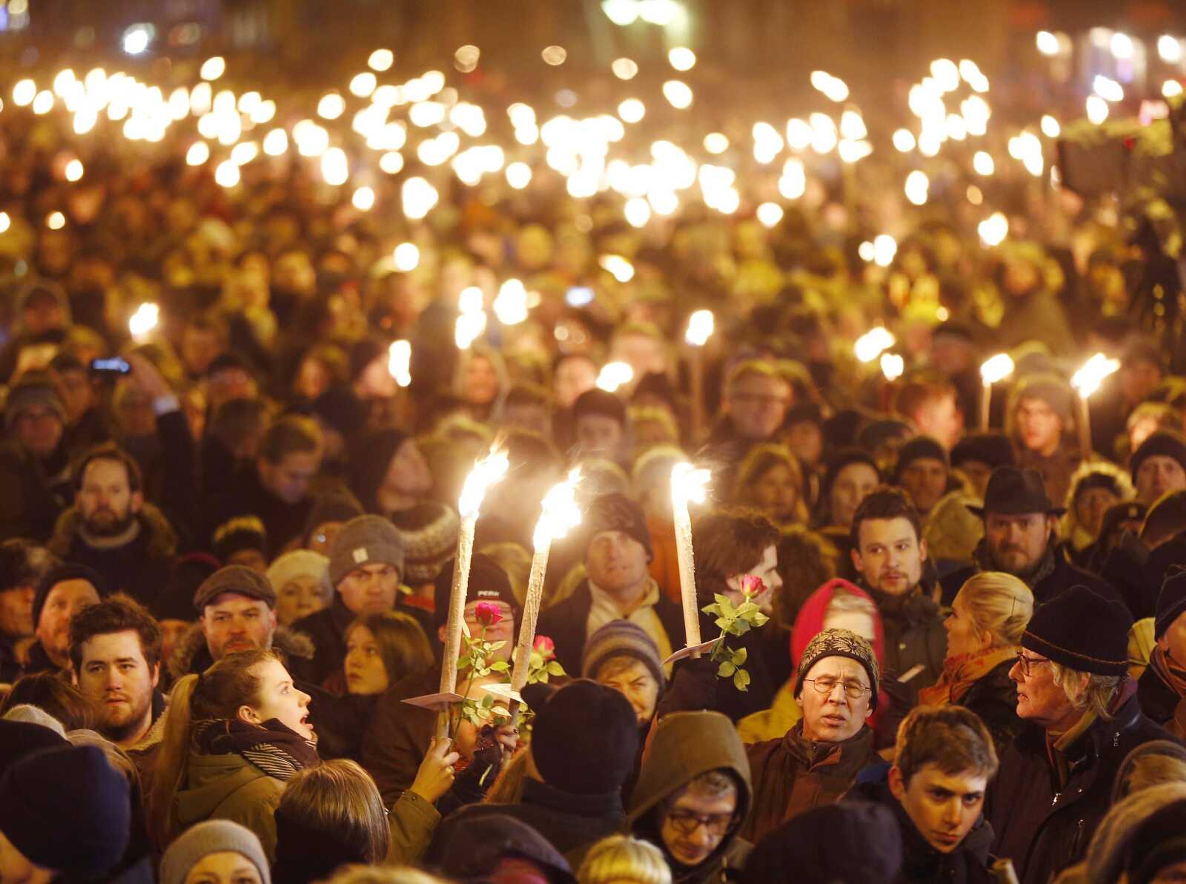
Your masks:
{"label": "dark navy beanie seen from behind in bottom left corner", "polygon": [[34,865],[100,878],[128,846],[130,787],[96,746],[34,752],[0,781],[0,832]]}

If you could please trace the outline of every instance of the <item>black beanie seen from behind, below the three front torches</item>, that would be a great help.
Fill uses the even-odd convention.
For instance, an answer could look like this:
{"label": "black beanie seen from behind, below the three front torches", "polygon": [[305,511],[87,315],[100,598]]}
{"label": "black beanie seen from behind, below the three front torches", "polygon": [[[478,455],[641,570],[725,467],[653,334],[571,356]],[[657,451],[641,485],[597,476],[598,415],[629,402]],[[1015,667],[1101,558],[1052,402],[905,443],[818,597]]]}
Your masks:
{"label": "black beanie seen from behind, below the three front torches", "polygon": [[548,786],[575,795],[621,789],[638,755],[638,717],[625,697],[588,679],[522,693],[535,712],[531,758]]}

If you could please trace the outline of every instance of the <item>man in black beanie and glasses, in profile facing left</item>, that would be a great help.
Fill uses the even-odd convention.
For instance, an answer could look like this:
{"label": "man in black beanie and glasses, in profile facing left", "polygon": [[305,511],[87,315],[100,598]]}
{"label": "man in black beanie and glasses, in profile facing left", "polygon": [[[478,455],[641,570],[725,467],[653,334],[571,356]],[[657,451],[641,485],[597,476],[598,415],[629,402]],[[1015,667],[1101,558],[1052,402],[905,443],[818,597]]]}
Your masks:
{"label": "man in black beanie and glasses, in profile facing left", "polygon": [[1131,624],[1122,604],[1072,586],[1038,608],[1021,636],[1009,678],[1026,726],[1001,757],[986,809],[994,852],[1013,860],[1021,884],[1045,884],[1079,861],[1111,807],[1121,762],[1169,739],[1128,679]]}

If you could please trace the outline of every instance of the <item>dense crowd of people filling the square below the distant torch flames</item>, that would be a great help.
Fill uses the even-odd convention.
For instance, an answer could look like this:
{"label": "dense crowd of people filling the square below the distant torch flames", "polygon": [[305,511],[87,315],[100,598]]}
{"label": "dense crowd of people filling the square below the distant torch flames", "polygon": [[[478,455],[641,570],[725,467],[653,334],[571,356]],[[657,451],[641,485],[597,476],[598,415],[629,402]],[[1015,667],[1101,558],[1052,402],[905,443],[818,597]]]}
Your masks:
{"label": "dense crowd of people filling the square below the distant torch flames", "polygon": [[[36,120],[0,168],[0,882],[1186,876],[1186,351],[1146,240],[1063,203],[882,267],[823,211],[639,230],[542,185],[408,228],[296,167],[66,189]],[[720,643],[678,656],[686,590]]]}

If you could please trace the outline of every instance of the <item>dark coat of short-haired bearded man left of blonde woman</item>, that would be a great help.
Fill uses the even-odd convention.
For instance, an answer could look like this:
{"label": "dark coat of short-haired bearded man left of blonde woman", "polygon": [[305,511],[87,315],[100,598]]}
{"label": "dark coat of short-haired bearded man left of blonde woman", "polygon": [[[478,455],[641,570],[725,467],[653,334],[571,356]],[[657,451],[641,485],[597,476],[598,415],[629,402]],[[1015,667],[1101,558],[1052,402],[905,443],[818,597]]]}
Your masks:
{"label": "dark coat of short-haired bearded man left of blonde woman", "polygon": [[894,678],[906,675],[917,666],[922,672],[904,683],[910,692],[910,706],[919,688],[930,687],[943,674],[948,655],[948,631],[943,628],[939,606],[922,589],[908,596],[890,596],[862,585],[881,612],[886,635],[885,672]]}

